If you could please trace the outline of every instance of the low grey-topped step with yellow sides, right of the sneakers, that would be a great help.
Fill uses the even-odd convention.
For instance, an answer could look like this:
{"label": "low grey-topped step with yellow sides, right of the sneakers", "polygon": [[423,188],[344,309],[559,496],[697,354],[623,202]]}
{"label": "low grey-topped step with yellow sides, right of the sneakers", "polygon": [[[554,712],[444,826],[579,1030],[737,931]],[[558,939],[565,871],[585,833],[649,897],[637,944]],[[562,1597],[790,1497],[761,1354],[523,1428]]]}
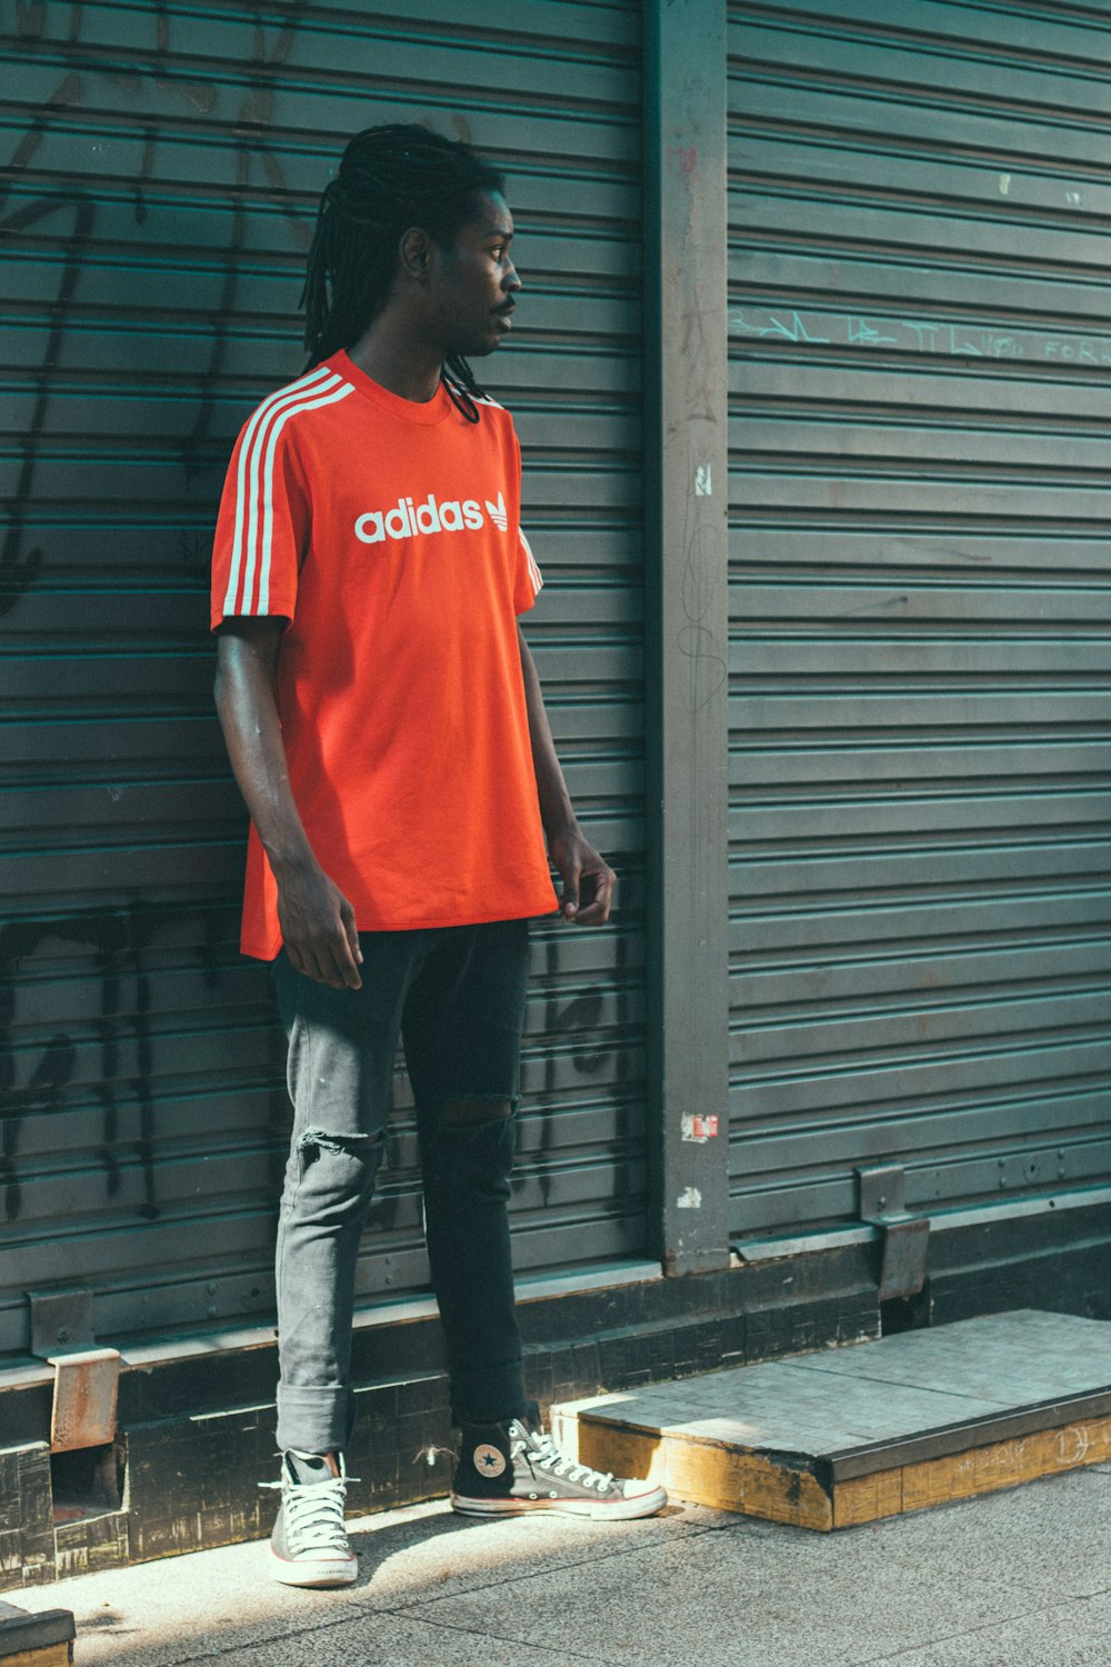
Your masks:
{"label": "low grey-topped step with yellow sides, right of the sneakers", "polygon": [[565,1452],[844,1529],[1111,1460],[1111,1322],[1023,1309],[553,1407]]}

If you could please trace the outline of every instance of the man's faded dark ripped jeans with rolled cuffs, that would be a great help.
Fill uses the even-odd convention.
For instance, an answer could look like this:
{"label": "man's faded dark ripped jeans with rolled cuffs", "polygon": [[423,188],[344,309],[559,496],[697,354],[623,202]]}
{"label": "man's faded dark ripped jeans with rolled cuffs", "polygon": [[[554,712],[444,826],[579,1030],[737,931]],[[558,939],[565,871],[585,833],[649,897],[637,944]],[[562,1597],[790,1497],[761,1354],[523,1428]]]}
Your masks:
{"label": "man's faded dark ripped jeans with rolled cuffs", "polygon": [[363,932],[361,990],[275,962],[293,1139],[278,1222],[278,1445],[346,1447],[355,1269],[398,1035],[416,1105],[425,1232],[456,1424],[521,1414],[510,1170],[528,922]]}

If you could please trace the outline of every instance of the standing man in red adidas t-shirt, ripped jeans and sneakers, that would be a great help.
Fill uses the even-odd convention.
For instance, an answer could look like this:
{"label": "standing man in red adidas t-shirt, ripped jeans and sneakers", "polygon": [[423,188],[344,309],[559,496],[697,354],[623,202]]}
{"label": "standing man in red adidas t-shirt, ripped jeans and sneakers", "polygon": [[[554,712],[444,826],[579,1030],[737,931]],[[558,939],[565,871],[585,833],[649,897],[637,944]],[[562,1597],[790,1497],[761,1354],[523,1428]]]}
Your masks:
{"label": "standing man in red adidas t-shirt, ripped jeans and sneakers", "polygon": [[565,1459],[521,1379],[506,1200],[528,919],[605,922],[615,875],[516,623],[541,578],[513,423],[466,362],[511,330],[511,242],[503,180],[466,145],[358,133],[310,252],[308,370],[245,425],[217,528],[217,705],[252,813],[242,947],[273,960],[290,1039],[272,1572],[293,1585],[356,1574],[353,1282],[398,1035],[461,1432],[451,1504],[640,1517],[666,1497]]}

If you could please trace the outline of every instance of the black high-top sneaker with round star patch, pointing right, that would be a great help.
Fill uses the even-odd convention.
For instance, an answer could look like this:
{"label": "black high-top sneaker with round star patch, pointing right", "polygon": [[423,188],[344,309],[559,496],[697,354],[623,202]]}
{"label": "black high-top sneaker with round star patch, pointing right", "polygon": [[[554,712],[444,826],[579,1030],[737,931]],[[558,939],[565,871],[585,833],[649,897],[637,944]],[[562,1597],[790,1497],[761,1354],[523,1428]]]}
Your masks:
{"label": "black high-top sneaker with round star patch, pointing right", "polygon": [[651,1517],[668,1502],[651,1482],[625,1482],[566,1459],[540,1425],[540,1409],[505,1424],[465,1424],[451,1509],[471,1517],[563,1510],[573,1517],[625,1522]]}

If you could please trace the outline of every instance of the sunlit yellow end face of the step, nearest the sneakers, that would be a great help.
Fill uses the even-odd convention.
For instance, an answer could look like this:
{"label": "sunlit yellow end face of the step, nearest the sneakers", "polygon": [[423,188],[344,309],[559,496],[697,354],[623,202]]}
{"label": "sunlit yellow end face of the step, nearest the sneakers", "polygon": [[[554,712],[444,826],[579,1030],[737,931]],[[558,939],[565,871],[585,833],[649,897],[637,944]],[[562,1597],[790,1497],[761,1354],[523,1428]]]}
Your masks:
{"label": "sunlit yellow end face of the step, nearest the sneakers", "polygon": [[580,1415],[578,1459],[595,1470],[661,1482],[696,1505],[821,1532],[833,1527],[833,1502],[808,1470],[790,1470],[725,1442],[668,1432],[648,1435]]}

